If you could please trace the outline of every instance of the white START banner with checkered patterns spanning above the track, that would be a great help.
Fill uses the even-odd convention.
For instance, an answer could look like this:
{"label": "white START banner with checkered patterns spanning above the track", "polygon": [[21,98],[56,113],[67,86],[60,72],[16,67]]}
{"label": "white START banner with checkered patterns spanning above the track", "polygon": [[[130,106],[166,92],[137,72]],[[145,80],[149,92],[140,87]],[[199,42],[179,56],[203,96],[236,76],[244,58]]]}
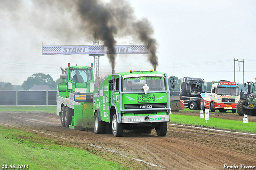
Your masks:
{"label": "white START banner with checkered patterns spanning above the track", "polygon": [[[114,46],[116,54],[149,54],[148,46]],[[108,54],[107,46],[42,46],[43,55]]]}

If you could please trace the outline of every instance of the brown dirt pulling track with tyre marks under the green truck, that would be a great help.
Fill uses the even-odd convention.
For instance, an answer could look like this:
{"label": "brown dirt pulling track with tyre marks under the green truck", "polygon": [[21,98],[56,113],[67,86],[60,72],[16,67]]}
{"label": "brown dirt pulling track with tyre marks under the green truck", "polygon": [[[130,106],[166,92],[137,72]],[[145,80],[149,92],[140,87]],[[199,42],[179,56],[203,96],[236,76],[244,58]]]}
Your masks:
{"label": "brown dirt pulling track with tyre marks under the green truck", "polygon": [[[198,113],[180,114],[194,116]],[[232,119],[232,114],[221,116]],[[240,120],[242,116],[237,118]],[[250,116],[250,120],[256,120],[256,116]],[[235,164],[239,169],[240,164],[256,166],[256,135],[168,125],[165,137],[158,137],[152,130],[152,134],[124,131],[123,137],[116,138],[112,134],[63,128],[59,116],[32,112],[0,112],[0,124],[46,136],[59,144],[86,149],[107,160],[109,157],[104,157],[104,153],[109,153],[113,155],[111,161],[135,169],[220,170],[224,164]]]}

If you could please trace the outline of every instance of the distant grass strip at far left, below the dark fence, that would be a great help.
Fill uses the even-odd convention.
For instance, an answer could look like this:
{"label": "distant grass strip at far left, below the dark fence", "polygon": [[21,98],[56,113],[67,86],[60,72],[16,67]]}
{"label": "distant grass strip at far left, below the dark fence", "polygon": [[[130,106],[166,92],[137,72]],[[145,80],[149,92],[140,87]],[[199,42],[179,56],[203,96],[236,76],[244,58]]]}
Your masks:
{"label": "distant grass strip at far left, below the dark fence", "polygon": [[0,112],[7,111],[56,113],[56,106],[0,106]]}

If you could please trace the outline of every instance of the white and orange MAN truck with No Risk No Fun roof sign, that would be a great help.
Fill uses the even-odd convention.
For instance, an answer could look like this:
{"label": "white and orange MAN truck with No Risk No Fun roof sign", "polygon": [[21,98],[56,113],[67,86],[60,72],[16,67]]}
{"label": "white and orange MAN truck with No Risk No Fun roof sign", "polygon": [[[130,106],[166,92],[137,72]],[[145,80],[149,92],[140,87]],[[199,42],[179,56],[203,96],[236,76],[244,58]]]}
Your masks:
{"label": "white and orange MAN truck with No Risk No Fun roof sign", "polygon": [[240,87],[236,82],[221,80],[220,83],[212,84],[211,93],[202,93],[201,96],[201,110],[210,108],[211,112],[232,110],[235,113],[240,100]]}

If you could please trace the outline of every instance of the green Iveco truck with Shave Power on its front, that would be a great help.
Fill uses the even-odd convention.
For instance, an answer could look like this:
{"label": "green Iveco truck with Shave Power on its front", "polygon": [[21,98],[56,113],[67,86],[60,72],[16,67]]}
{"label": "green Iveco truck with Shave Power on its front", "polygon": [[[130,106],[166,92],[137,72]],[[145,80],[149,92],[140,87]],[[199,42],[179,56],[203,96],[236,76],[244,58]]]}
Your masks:
{"label": "green Iveco truck with Shave Power on its front", "polygon": [[[174,88],[174,80],[171,80]],[[94,90],[95,133],[122,136],[123,130],[166,136],[170,121],[170,90],[166,73],[120,72],[108,76]]]}

